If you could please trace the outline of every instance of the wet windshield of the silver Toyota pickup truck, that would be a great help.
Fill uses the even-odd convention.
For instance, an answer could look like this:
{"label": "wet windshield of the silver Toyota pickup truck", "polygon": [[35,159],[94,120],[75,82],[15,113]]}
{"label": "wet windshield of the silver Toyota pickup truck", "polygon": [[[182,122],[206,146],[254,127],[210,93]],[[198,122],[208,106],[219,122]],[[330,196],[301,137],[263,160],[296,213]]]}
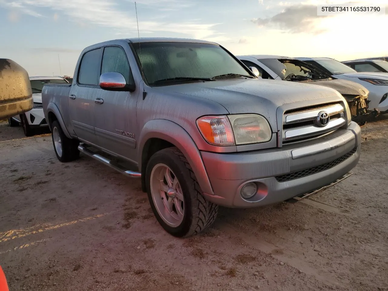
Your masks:
{"label": "wet windshield of the silver Toyota pickup truck", "polygon": [[[147,83],[214,81],[218,78],[254,78],[218,45],[186,42],[132,43]],[[217,78],[215,78],[217,77]]]}

